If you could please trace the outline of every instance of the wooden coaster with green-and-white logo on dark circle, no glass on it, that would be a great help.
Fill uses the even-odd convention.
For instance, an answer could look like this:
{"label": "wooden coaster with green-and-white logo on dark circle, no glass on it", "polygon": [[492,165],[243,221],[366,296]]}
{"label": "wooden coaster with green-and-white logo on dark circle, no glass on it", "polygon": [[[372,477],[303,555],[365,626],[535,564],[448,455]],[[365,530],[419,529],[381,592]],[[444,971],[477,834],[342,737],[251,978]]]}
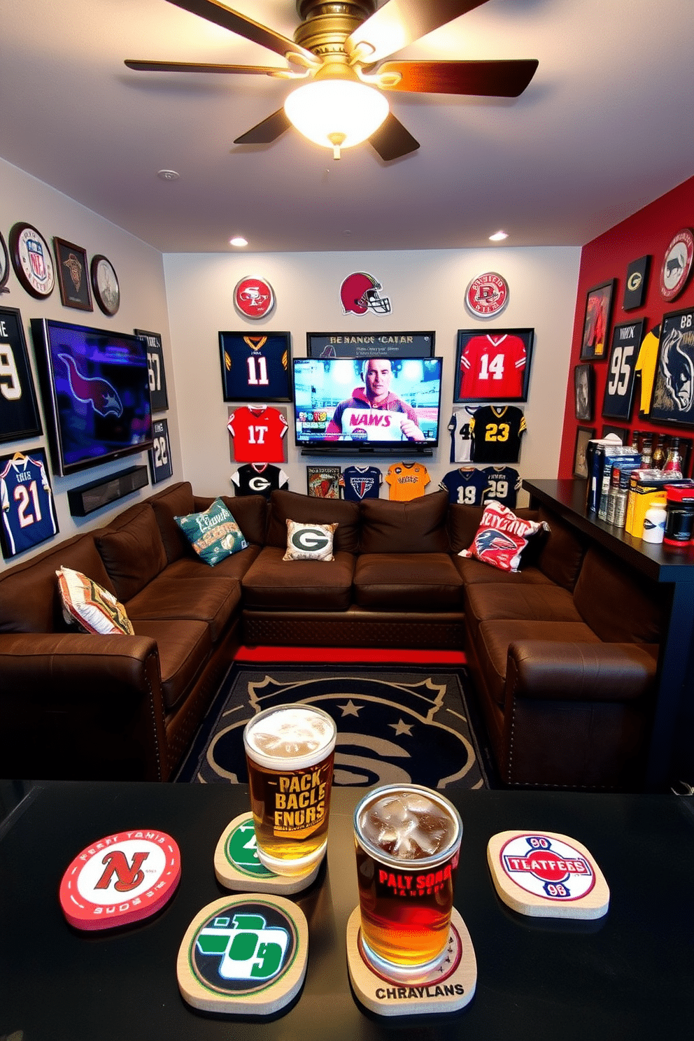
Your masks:
{"label": "wooden coaster with green-and-white logo on dark circle, no glass on it", "polygon": [[204,1012],[266,1016],[301,990],[308,922],[283,896],[242,893],[208,904],[192,919],[176,973],[185,1000]]}

